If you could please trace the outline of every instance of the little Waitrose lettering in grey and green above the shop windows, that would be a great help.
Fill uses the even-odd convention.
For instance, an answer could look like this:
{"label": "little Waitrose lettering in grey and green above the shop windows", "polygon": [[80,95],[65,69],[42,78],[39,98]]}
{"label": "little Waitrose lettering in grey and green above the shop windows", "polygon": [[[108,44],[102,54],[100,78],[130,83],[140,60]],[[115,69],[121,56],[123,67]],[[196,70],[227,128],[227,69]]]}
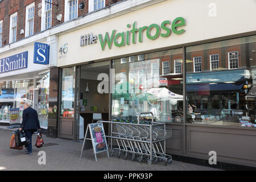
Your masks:
{"label": "little Waitrose lettering in grey and green above the shop windows", "polygon": [[[171,28],[168,28],[167,25],[171,26]],[[111,36],[109,36],[109,32],[105,33],[105,37],[103,38],[102,34],[98,34],[98,37],[96,35],[93,35],[93,33],[90,33],[88,35],[82,35],[80,37],[80,46],[88,46],[90,44],[97,43],[97,39],[100,39],[101,49],[102,51],[105,50],[106,44],[108,44],[109,49],[112,48],[113,42],[116,47],[122,47],[126,45],[130,45],[130,43],[136,44],[137,43],[137,35],[139,38],[139,42],[143,42],[143,32],[146,31],[146,36],[150,40],[158,39],[159,36],[162,36],[163,38],[167,38],[171,35],[171,32],[174,32],[174,34],[183,34],[185,32],[184,29],[177,30],[179,27],[186,26],[185,19],[182,17],[177,17],[173,20],[171,23],[170,20],[164,20],[161,25],[158,24],[151,24],[150,26],[143,26],[137,28],[137,22],[134,22],[133,25],[127,24],[127,28],[131,28],[131,30],[127,30],[126,32],[119,32],[117,33],[116,30],[112,31]],[[155,30],[154,33],[152,33],[152,30]],[[117,34],[116,34],[117,33]],[[118,42],[118,40],[120,40]]]}

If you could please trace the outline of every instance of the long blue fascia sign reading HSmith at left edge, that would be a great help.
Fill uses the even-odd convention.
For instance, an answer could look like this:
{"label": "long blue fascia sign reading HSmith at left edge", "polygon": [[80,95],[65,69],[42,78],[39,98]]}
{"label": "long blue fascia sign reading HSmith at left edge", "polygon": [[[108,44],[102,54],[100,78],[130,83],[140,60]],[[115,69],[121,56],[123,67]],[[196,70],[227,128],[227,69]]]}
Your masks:
{"label": "long blue fascia sign reading HSmith at left edge", "polygon": [[27,68],[27,51],[0,59],[0,73]]}

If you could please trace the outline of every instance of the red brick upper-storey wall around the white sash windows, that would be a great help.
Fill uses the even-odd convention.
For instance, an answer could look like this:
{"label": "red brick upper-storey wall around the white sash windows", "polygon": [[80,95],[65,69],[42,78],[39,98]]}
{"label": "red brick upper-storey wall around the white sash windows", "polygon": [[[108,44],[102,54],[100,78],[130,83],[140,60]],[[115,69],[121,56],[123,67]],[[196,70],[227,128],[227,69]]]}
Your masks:
{"label": "red brick upper-storey wall around the white sash windows", "polygon": [[[106,0],[106,7],[113,5],[123,0]],[[0,2],[0,20],[3,20],[3,40],[2,46],[9,44],[9,31],[10,31],[10,15],[17,12],[17,38],[20,40],[24,38],[25,34],[20,35],[20,30],[25,32],[26,23],[26,6],[35,2],[35,16],[34,16],[34,34],[41,31],[41,13],[42,13],[42,0],[3,0]],[[64,22],[64,9],[65,0],[53,0],[58,6],[52,5],[52,27],[57,26]],[[88,14],[88,0],[78,0],[78,4],[84,2],[84,9],[78,9],[78,16],[85,16]],[[57,15],[62,14],[61,22],[56,18]]]}

